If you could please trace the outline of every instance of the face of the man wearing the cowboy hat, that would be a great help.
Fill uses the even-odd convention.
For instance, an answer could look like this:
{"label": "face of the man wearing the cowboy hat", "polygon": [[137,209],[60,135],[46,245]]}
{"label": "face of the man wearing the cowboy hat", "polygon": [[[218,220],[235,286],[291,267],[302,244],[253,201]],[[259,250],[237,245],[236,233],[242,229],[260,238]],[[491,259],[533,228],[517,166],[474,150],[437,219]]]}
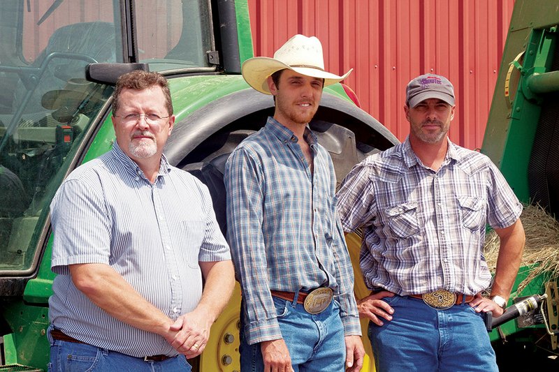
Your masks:
{"label": "face of the man wearing the cowboy hat", "polygon": [[268,77],[268,87],[275,96],[274,118],[284,125],[306,125],[319,108],[323,80],[286,69],[278,86]]}

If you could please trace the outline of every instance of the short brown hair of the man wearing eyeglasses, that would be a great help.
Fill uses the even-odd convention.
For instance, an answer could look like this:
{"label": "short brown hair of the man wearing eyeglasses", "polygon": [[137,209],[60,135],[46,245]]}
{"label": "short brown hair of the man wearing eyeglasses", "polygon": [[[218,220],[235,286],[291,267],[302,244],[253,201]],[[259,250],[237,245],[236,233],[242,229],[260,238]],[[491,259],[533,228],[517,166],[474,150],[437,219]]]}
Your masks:
{"label": "short brown hair of the man wearing eyeglasses", "polygon": [[170,99],[170,91],[167,79],[160,73],[152,73],[143,70],[134,70],[131,73],[121,75],[115,87],[115,93],[112,95],[112,112],[118,111],[120,102],[119,96],[124,89],[143,90],[151,87],[161,87],[165,96],[165,107],[169,115],[173,114],[173,102]]}

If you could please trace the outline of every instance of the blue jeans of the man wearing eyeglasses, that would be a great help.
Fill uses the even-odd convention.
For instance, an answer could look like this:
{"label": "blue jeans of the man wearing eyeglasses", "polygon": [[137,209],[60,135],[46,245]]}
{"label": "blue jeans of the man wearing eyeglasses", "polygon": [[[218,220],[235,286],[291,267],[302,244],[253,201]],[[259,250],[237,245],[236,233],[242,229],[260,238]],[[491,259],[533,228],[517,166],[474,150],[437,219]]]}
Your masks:
{"label": "blue jeans of the man wearing eyeglasses", "polygon": [[87,343],[50,340],[49,372],[190,372],[191,366],[184,355],[163,362],[145,362],[143,358],[131,357]]}

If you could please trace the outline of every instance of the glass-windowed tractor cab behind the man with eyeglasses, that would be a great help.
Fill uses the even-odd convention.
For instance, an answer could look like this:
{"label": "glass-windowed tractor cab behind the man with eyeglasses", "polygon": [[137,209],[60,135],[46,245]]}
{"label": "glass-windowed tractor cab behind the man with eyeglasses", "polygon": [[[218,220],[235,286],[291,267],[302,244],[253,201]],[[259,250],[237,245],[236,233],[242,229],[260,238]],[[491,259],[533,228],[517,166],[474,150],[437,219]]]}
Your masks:
{"label": "glass-windowed tractor cab behind the man with eyeglasses", "polygon": [[[36,271],[52,195],[106,114],[112,85],[87,80],[87,66],[217,73],[212,24],[208,0],[3,1],[0,278]],[[21,295],[23,285],[0,293]]]}

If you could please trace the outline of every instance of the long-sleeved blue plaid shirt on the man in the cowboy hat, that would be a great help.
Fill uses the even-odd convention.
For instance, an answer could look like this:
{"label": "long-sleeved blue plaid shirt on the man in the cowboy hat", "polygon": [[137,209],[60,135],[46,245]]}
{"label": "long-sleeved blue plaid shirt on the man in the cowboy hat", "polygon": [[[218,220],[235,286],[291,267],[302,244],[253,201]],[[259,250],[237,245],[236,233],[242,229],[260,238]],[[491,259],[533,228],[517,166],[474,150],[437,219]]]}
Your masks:
{"label": "long-sleeved blue plaid shirt on the man in the cowboy hat", "polygon": [[282,337],[270,290],[324,285],[340,302],[345,334],[361,334],[333,163],[308,128],[304,137],[314,154],[314,173],[298,138],[271,117],[226,163],[228,241],[249,344]]}

